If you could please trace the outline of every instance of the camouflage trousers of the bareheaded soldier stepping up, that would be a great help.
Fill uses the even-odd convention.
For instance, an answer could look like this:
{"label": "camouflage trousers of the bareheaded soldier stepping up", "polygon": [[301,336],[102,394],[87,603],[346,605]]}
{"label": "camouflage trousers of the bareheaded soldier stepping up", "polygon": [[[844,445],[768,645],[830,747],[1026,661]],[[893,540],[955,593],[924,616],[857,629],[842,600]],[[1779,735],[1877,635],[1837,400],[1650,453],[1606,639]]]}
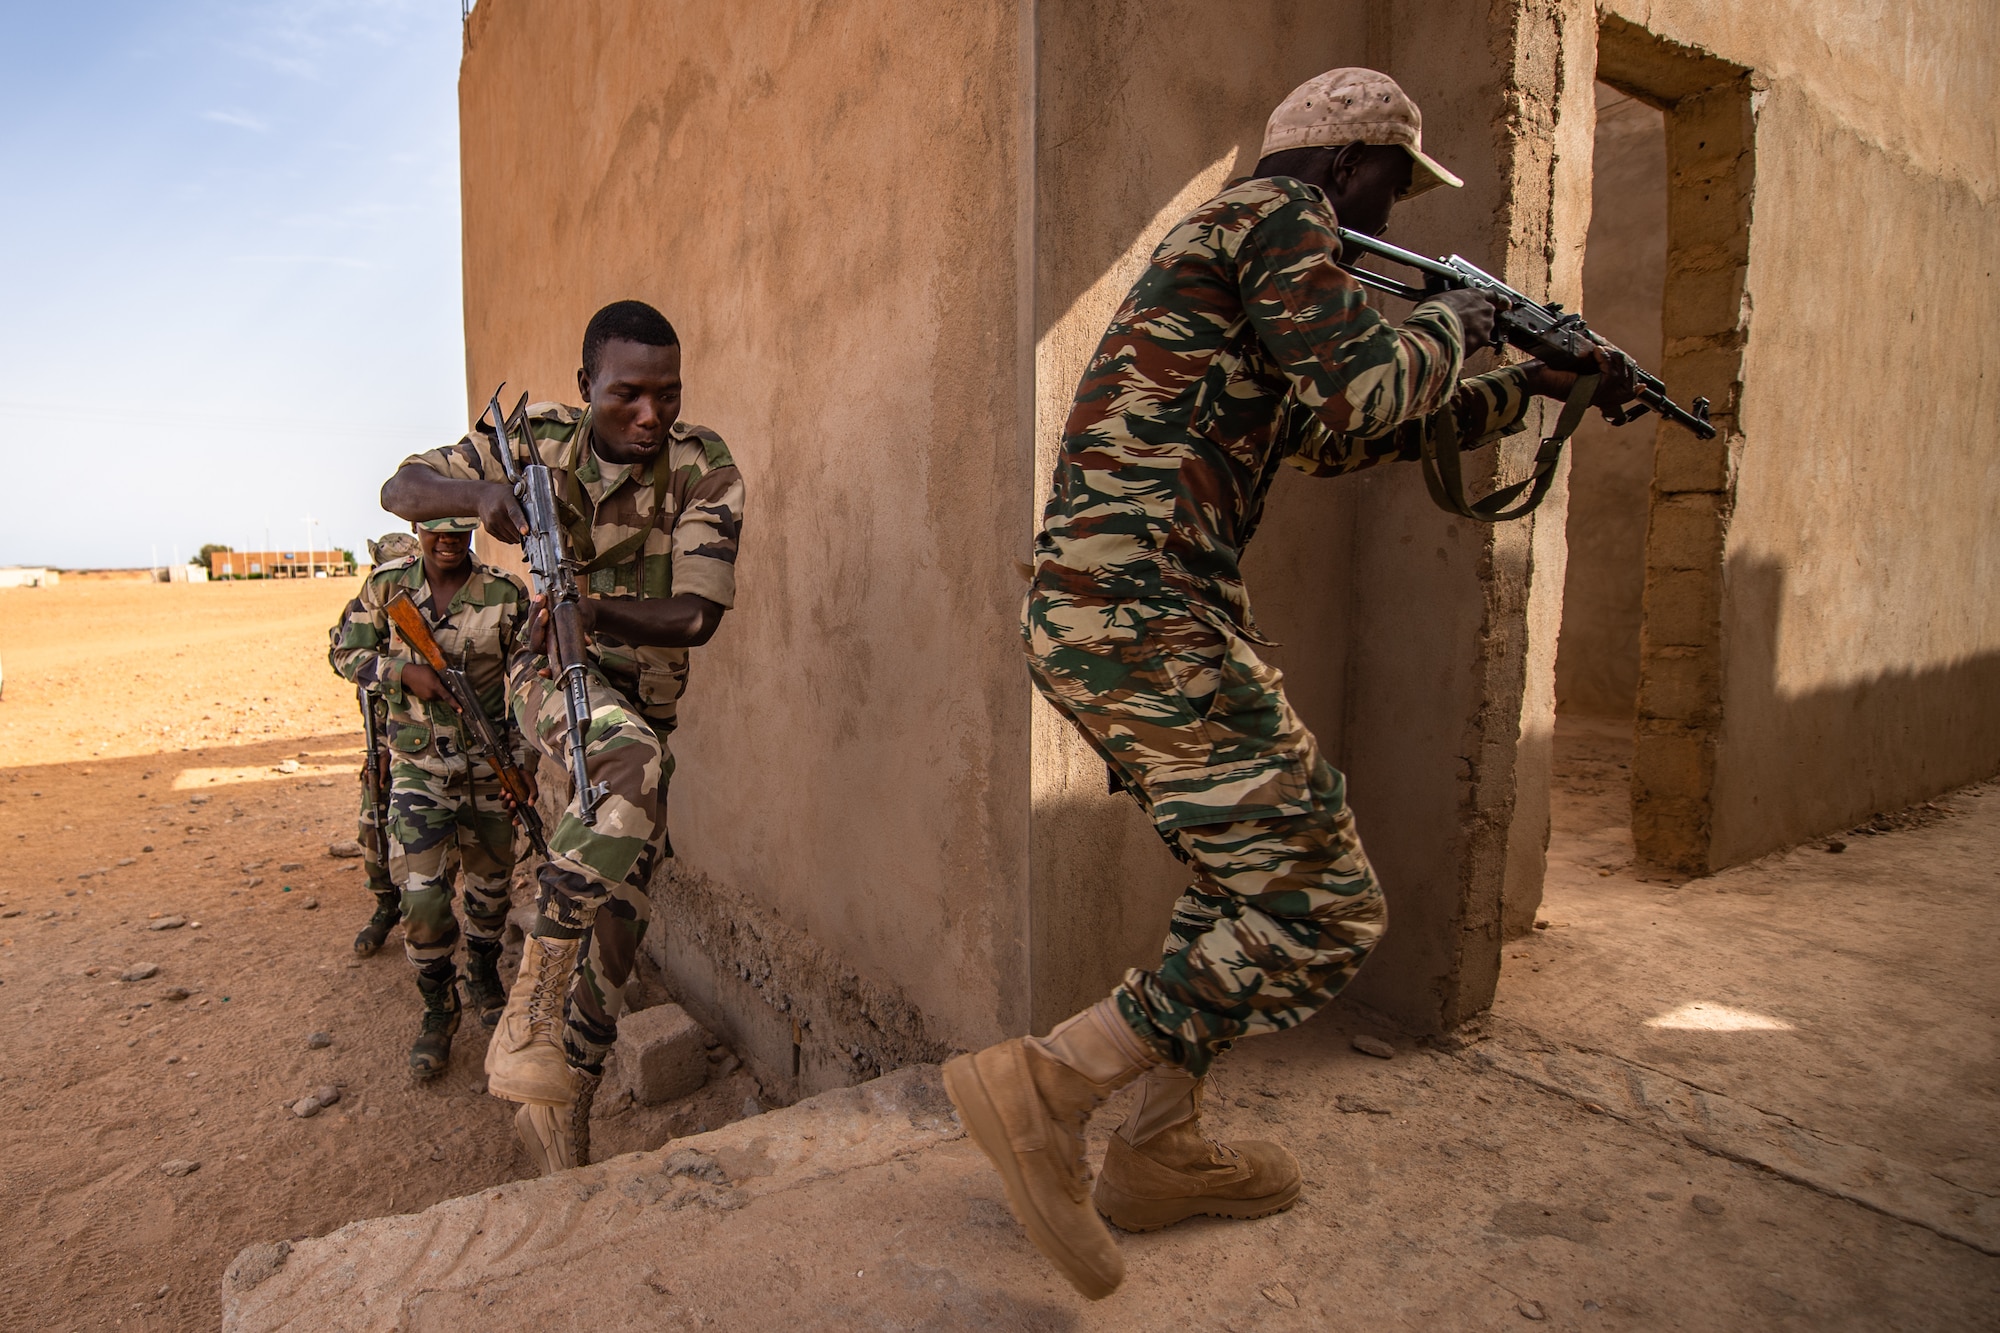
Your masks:
{"label": "camouflage trousers of the bareheaded soldier stepping up", "polygon": [[[508,705],[528,743],[568,773],[568,711],[556,683],[538,675],[540,664],[542,658],[530,658],[514,671]],[[550,861],[538,875],[536,907],[546,923],[538,929],[584,937],[564,1007],[562,1043],[572,1065],[598,1071],[618,1041],[626,985],[652,919],[646,885],[660,857],[672,855],[666,789],[674,777],[674,755],[666,735],[618,689],[596,673],[588,681],[584,763],[592,785],[604,783],[610,791],[598,805],[594,827],[582,821],[576,793],[568,793],[568,805],[548,835]]]}

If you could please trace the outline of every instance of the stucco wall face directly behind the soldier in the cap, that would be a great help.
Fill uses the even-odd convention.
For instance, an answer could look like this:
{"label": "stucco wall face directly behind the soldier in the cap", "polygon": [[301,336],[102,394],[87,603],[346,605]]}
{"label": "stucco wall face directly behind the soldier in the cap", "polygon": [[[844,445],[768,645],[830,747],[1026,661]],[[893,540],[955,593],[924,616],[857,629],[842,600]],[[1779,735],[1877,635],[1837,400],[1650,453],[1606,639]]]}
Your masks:
{"label": "stucco wall face directly behind the soldier in the cap", "polygon": [[[1258,158],[1270,108],[1324,68],[1358,60],[1358,10],[1256,0],[1224,28],[1198,0],[1038,6],[1036,470],[1040,522],[1062,422],[1084,364],[1180,214]],[[1346,488],[1280,476],[1246,572],[1284,646],[1294,703],[1330,755],[1342,723]],[[1100,999],[1158,963],[1188,873],[1076,731],[1034,701],[1036,1023]]]}

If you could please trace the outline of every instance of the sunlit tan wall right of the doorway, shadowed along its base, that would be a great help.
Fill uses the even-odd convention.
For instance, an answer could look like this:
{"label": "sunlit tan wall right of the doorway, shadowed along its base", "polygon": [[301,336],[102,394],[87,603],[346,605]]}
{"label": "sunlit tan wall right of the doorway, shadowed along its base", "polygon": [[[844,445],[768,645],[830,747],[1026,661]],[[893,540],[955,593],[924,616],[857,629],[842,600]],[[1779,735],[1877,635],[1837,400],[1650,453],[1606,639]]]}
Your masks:
{"label": "sunlit tan wall right of the doorway, shadowed along its base", "polygon": [[1700,869],[2000,769],[2000,608],[1978,594],[2000,572],[2000,26],[1984,4],[1606,12],[1752,88]]}

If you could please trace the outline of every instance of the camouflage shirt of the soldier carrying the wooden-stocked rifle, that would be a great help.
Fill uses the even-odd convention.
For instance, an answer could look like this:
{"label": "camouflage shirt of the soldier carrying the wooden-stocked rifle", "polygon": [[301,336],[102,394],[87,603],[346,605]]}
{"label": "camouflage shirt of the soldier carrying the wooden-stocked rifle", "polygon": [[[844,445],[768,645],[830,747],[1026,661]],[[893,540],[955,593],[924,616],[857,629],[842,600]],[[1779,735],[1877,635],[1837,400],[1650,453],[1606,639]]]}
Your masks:
{"label": "camouflage shirt of the soldier carrying the wooden-stocked rifle", "polygon": [[[410,594],[446,660],[466,673],[486,717],[506,733],[506,666],[528,636],[528,588],[514,574],[474,560],[466,584],[440,608],[424,578],[424,560],[402,556],[368,574],[336,626],[328,660],[382,699],[388,709],[384,737],[396,757],[430,773],[464,773],[468,751],[478,749],[470,729],[460,727],[450,705],[424,703],[402,689],[402,673],[418,656],[382,610],[396,592]],[[524,761],[526,755],[516,739],[514,757]]]}

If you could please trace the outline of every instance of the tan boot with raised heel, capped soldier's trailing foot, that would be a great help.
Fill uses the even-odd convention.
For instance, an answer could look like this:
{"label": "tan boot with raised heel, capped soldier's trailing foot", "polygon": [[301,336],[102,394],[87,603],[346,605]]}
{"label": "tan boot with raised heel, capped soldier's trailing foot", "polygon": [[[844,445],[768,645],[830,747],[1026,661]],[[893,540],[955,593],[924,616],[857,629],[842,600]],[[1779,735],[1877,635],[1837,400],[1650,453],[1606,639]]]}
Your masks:
{"label": "tan boot with raised heel, capped soldier's trailing foot", "polygon": [[1048,1037],[1016,1037],[944,1065],[944,1091],[966,1135],[1000,1171],[1014,1217],[1092,1301],[1124,1281],[1124,1257],[1090,1205],[1084,1125],[1098,1103],[1158,1059],[1106,999]]}

